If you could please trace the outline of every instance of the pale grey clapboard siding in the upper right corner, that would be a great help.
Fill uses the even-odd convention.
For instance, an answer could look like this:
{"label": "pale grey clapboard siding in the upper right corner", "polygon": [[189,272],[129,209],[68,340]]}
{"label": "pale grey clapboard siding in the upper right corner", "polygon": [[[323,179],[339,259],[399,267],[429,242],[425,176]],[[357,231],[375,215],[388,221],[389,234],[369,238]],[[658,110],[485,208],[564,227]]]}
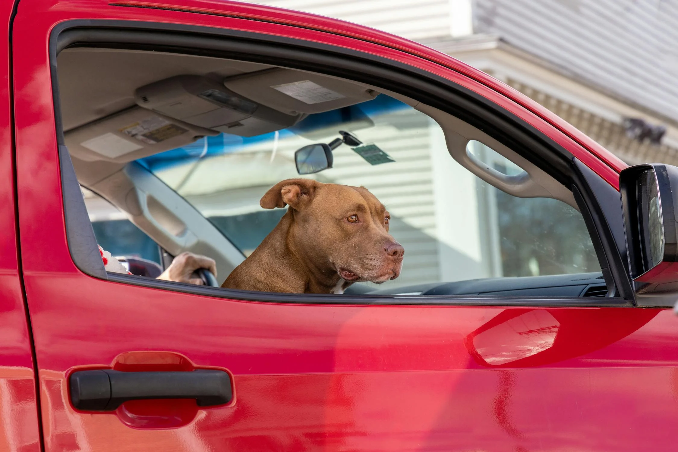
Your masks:
{"label": "pale grey clapboard siding in the upper right corner", "polygon": [[475,33],[678,121],[678,2],[475,0]]}

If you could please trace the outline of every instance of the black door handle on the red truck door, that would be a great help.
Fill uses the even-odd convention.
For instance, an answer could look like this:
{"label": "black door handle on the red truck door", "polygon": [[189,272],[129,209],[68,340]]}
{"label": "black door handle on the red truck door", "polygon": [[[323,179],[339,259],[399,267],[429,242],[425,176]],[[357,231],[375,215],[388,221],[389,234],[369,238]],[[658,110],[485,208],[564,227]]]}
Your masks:
{"label": "black door handle on the red truck door", "polygon": [[231,377],[218,370],[189,372],[77,371],[69,378],[71,402],[83,411],[114,411],[127,400],[195,398],[199,407],[233,398]]}

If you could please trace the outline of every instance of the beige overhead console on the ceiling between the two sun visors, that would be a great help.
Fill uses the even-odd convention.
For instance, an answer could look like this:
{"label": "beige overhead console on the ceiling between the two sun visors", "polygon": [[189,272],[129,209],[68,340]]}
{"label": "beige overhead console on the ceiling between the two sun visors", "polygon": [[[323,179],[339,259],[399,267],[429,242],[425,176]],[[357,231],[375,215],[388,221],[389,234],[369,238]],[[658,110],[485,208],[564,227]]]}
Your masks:
{"label": "beige overhead console on the ceiling between the two sun visors", "polygon": [[285,129],[304,117],[269,108],[199,75],[151,83],[138,88],[135,97],[139,106],[167,117],[245,137]]}

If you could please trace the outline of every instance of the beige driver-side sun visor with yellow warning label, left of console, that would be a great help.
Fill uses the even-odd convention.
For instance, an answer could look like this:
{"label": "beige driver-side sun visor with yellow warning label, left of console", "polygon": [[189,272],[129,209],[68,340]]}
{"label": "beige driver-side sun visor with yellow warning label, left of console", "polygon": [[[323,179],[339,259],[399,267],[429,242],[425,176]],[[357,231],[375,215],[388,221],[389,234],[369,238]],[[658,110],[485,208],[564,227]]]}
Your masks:
{"label": "beige driver-side sun visor with yellow warning label, left of console", "polygon": [[83,161],[125,163],[186,146],[218,131],[134,106],[64,133],[72,155]]}

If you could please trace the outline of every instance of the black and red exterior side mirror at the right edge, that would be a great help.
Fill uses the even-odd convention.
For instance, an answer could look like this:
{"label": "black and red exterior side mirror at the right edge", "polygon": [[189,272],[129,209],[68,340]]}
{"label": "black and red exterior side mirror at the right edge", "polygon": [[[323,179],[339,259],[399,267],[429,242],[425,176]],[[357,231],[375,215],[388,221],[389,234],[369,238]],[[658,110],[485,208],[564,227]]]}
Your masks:
{"label": "black and red exterior side mirror at the right edge", "polygon": [[678,167],[635,165],[619,176],[631,278],[639,293],[678,291]]}

